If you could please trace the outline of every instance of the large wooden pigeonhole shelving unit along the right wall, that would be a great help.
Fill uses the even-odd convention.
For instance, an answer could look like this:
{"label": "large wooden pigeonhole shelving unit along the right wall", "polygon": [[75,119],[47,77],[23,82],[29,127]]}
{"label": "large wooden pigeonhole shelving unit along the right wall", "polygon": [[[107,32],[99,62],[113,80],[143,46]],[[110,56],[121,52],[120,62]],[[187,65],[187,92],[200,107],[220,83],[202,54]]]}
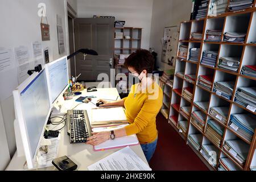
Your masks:
{"label": "large wooden pigeonhole shelving unit along the right wall", "polygon": [[[254,7],[246,10],[241,10],[237,12],[227,12],[218,16],[207,16],[205,19],[189,20],[181,22],[180,24],[180,35],[178,43],[177,55],[179,55],[179,47],[181,45],[188,46],[187,59],[181,59],[177,56],[174,86],[172,91],[171,99],[171,109],[169,115],[169,123],[174,127],[174,129],[179,132],[181,137],[185,142],[192,148],[193,151],[200,157],[201,160],[209,167],[209,169],[217,170],[220,166],[220,158],[228,158],[232,161],[237,169],[248,171],[251,166],[256,166],[256,131],[254,131],[254,137],[252,140],[248,140],[242,137],[241,134],[237,133],[232,127],[230,127],[230,116],[232,114],[256,114],[255,112],[246,109],[237,102],[234,101],[235,94],[238,88],[241,87],[252,87],[256,85],[256,78],[241,75],[241,69],[245,65],[256,65],[256,44],[251,42],[256,42],[256,2],[254,2]],[[222,31],[221,42],[207,42],[206,31],[208,29],[220,30]],[[192,40],[192,32],[202,32],[203,39],[201,41]],[[224,42],[225,32],[245,32],[246,40],[245,43],[232,43]],[[200,56],[198,62],[189,61],[189,49],[190,48],[200,48]],[[215,67],[210,67],[208,65],[201,64],[201,59],[203,57],[204,51],[216,51],[218,52],[217,61]],[[237,72],[229,71],[227,69],[219,68],[218,62],[221,57],[241,57],[240,65]],[[196,82],[191,83],[185,80],[184,76],[180,76],[177,72],[184,72],[186,74],[195,74]],[[210,89],[204,86],[198,85],[199,76],[212,76],[212,86]],[[220,94],[213,92],[214,83],[219,81],[233,81],[234,88],[232,93],[232,98],[230,100],[222,97]],[[193,90],[192,101],[189,101],[183,96],[184,88],[190,87]],[[204,102],[206,105],[205,109],[199,107],[196,103]],[[180,106],[180,107],[177,107]],[[187,106],[191,107],[188,117],[181,112],[181,107]],[[226,123],[220,121],[219,117],[214,117],[210,114],[210,109],[213,107],[225,107],[228,110],[228,115],[226,116]],[[203,127],[197,125],[195,122],[195,117],[192,117],[193,112],[199,111],[203,117]],[[220,130],[223,131],[220,144],[216,143],[208,134],[208,127],[210,126],[209,120],[213,122],[214,125],[218,126]],[[179,121],[187,121],[188,129],[187,133],[180,133],[180,127],[178,125]],[[192,122],[193,121],[193,122]],[[256,121],[255,121],[256,122]],[[202,140],[199,141],[200,150],[196,150],[193,144],[189,142],[189,135],[200,134]],[[224,144],[226,140],[239,139],[245,146],[248,146],[249,150],[247,152],[246,162],[239,163],[230,151],[226,151]],[[202,145],[211,144],[216,151],[216,165],[209,163],[209,160],[202,155],[201,149]]]}

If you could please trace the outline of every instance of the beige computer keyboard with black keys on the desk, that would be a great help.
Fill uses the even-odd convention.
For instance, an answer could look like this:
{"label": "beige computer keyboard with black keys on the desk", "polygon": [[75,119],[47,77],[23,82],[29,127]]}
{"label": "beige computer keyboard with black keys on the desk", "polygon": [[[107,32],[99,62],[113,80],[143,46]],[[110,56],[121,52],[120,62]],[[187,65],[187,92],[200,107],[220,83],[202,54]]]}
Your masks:
{"label": "beige computer keyboard with black keys on the desk", "polygon": [[92,129],[86,110],[68,110],[68,135],[70,143],[86,143]]}

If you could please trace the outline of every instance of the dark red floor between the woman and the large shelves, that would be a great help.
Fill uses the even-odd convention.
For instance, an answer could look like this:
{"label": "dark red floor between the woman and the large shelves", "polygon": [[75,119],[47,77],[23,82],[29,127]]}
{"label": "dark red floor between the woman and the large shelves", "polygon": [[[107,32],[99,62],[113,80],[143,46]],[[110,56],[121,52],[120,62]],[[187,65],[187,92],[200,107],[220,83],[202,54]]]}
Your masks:
{"label": "dark red floor between the woman and the large shelves", "polygon": [[158,146],[150,161],[154,171],[209,171],[162,114],[156,121]]}

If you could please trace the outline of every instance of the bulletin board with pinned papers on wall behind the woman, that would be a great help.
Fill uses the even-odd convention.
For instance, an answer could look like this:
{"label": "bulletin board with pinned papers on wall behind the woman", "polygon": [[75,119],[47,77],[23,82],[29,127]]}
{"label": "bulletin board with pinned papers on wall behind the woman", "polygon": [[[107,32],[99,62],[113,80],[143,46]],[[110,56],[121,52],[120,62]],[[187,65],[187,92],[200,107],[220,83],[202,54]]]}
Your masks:
{"label": "bulletin board with pinned papers on wall behind the woman", "polygon": [[162,62],[175,66],[177,56],[177,44],[179,41],[179,27],[171,26],[164,28],[164,38],[162,38]]}

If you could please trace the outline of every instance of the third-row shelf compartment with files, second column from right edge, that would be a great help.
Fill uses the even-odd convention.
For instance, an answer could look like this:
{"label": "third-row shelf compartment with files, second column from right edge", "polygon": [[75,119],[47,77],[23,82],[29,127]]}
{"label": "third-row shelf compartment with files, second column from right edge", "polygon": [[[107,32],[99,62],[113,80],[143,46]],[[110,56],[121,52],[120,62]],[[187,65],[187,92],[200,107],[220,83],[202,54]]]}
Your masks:
{"label": "third-row shelf compartment with files, second column from right edge", "polygon": [[216,71],[214,78],[213,92],[226,100],[232,100],[234,94],[234,86],[236,84],[237,76],[229,73]]}

